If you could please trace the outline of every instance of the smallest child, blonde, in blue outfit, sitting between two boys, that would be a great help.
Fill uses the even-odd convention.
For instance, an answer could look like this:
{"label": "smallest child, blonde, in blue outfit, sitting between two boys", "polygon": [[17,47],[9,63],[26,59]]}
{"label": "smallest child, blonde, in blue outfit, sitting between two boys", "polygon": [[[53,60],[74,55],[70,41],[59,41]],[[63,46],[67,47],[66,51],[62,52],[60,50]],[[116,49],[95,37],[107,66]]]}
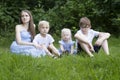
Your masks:
{"label": "smallest child, blonde, in blue outfit, sitting between two boys", "polygon": [[71,30],[68,28],[63,28],[61,31],[61,40],[60,44],[60,54],[62,53],[70,53],[74,54],[76,51],[74,50],[74,41],[72,41]]}

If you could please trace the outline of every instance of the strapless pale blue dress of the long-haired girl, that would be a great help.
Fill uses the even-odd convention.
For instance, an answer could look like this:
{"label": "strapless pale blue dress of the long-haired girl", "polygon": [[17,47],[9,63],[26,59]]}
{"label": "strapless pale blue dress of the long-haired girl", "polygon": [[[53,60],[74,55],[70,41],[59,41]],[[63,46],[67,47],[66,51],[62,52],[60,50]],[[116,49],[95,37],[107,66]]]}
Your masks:
{"label": "strapless pale blue dress of the long-haired girl", "polygon": [[[23,30],[20,32],[20,35],[22,41],[31,42],[30,32]],[[34,46],[19,45],[16,41],[12,42],[10,50],[12,53],[31,55],[33,57],[40,57],[46,55],[45,51],[42,49],[36,49]]]}

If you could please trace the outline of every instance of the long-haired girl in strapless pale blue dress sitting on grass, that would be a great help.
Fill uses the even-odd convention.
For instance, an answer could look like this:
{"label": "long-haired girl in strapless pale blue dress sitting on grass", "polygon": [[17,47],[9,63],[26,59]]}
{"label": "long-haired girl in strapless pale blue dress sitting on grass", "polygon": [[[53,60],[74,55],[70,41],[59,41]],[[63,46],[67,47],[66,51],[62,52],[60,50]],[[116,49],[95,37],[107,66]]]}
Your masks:
{"label": "long-haired girl in strapless pale blue dress sitting on grass", "polygon": [[34,57],[44,56],[45,52],[39,49],[40,46],[32,42],[35,36],[35,25],[30,11],[23,10],[20,16],[21,24],[15,27],[16,40],[10,46],[11,52]]}

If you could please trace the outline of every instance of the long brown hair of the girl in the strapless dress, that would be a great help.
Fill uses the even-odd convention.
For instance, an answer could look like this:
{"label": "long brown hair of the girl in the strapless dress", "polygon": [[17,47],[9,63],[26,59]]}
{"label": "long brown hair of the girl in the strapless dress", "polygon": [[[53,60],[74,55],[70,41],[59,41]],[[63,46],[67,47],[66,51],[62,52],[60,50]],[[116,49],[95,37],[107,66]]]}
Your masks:
{"label": "long brown hair of the girl in the strapless dress", "polygon": [[21,14],[22,14],[22,12],[27,12],[29,14],[29,16],[30,16],[28,31],[32,35],[32,39],[33,39],[36,33],[35,33],[35,25],[34,25],[32,14],[28,10],[22,10],[21,13],[20,13],[20,23],[22,23],[22,24],[23,24],[23,22],[21,20]]}

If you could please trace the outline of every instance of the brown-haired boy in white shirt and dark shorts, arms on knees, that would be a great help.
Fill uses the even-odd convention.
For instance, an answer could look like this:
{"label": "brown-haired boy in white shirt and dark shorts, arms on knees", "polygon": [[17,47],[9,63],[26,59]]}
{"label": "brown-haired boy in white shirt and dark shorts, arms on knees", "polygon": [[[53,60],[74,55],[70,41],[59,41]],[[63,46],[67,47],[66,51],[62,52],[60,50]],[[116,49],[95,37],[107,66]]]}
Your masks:
{"label": "brown-haired boy in white shirt and dark shorts, arms on knees", "polygon": [[[97,52],[102,47],[107,55],[109,55],[109,48],[107,39],[110,37],[109,33],[98,32],[91,29],[91,22],[87,17],[82,17],[79,22],[80,30],[75,34],[77,39],[78,50],[84,50],[90,57],[93,57],[93,52]],[[94,37],[98,37],[94,46],[92,41]]]}

